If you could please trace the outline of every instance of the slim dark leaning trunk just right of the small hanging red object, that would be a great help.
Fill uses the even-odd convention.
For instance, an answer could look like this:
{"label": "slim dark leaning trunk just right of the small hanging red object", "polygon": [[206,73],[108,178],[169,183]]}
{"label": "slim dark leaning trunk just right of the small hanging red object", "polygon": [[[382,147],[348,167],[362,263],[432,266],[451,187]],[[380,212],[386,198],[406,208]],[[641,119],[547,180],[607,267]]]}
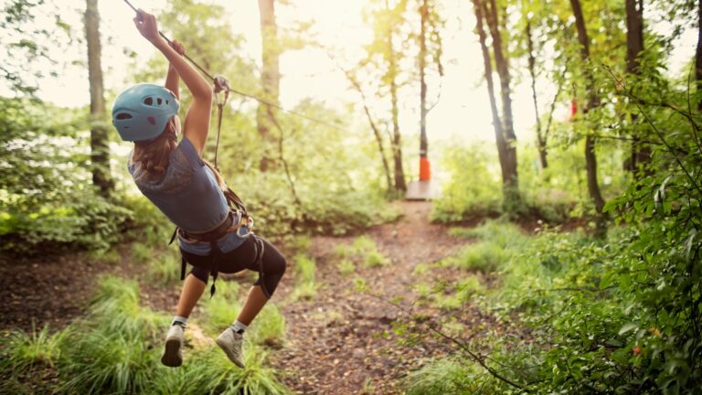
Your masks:
{"label": "slim dark leaning trunk just right of the small hanging red object", "polygon": [[[600,96],[597,93],[595,87],[594,77],[589,68],[590,63],[590,38],[588,37],[588,32],[585,29],[585,19],[582,16],[582,9],[580,8],[580,0],[570,0],[570,5],[573,8],[573,15],[575,16],[575,26],[578,29],[578,40],[580,41],[580,59],[585,67],[585,79],[587,80],[587,88],[589,94],[589,100],[585,104],[582,112],[583,115],[587,114],[591,109],[596,108],[600,105]],[[596,211],[596,233],[603,235],[606,232],[605,215],[602,212],[604,208],[604,199],[600,191],[600,184],[597,178],[597,155],[595,155],[595,137],[592,133],[588,133],[585,137],[585,169],[587,171],[588,179],[588,192],[590,193],[590,198],[592,203],[595,205]]]}

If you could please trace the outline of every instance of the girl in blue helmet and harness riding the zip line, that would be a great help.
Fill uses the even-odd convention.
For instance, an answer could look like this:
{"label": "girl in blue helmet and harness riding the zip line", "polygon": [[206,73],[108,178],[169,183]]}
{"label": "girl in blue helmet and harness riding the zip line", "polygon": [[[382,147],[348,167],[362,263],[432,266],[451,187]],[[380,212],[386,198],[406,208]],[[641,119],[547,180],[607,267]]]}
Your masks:
{"label": "girl in blue helmet and harness riding the zip line", "polygon": [[[114,101],[112,123],[122,140],[135,144],[128,167],[136,186],[180,229],[184,270],[185,262],[194,266],[185,279],[161,362],[169,367],[183,363],[187,317],[204,293],[209,275],[216,279],[218,272],[249,269],[259,272],[259,279],[236,321],[216,340],[229,360],[243,368],[244,332],[271,298],[286,262],[268,241],[250,233],[245,212],[229,208],[221,177],[201,158],[213,100],[207,80],[181,57],[185,53],[181,45],[174,42],[171,46],[159,35],[153,15],[137,11],[134,25],[168,59],[168,74],[165,87],[138,84],[123,91]],[[193,100],[182,127],[183,138],[177,143],[181,133],[179,78]]]}

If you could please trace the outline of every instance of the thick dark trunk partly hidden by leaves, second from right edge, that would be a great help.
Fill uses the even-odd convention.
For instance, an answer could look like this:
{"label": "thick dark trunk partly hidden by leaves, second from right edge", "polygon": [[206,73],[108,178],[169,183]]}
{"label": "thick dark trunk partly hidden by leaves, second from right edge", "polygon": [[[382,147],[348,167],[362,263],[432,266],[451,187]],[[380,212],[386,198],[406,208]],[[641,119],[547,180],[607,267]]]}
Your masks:
{"label": "thick dark trunk partly hidden by leaves, second from right edge", "polygon": [[[639,56],[644,51],[644,0],[625,0],[626,7],[626,72],[629,75],[641,74]],[[632,114],[632,123],[636,124],[638,116]],[[641,176],[639,166],[646,165],[651,160],[651,148],[641,142],[638,131],[632,133],[632,155],[629,158],[628,170],[634,176]]]}

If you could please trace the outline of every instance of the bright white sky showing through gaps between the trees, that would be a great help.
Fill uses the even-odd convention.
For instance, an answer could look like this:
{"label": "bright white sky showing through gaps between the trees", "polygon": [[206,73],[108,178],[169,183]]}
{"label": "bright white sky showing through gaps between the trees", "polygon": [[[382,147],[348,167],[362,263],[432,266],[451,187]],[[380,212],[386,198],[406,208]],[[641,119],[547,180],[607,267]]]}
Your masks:
{"label": "bright white sky showing through gaps between the trees", "polygon": [[[210,0],[224,5],[234,33],[245,37],[244,49],[252,59],[261,59],[261,35],[258,2],[255,0]],[[167,5],[166,0],[139,1],[133,5],[158,13]],[[79,33],[82,33],[84,3],[69,0],[54,0],[64,10],[63,18]],[[133,11],[121,0],[99,1],[102,35],[102,67],[107,90],[121,91],[130,81],[124,67],[129,61],[123,48],[133,49],[137,59],[150,59],[157,51],[139,36],[133,28]],[[360,59],[363,45],[371,38],[371,32],[362,20],[362,10],[367,0],[294,0],[290,5],[276,9],[279,23],[291,20],[314,21],[314,32],[324,44],[339,48],[347,59]],[[430,112],[427,130],[432,144],[450,145],[455,142],[494,142],[492,117],[487,101],[483,79],[483,59],[477,37],[473,33],[474,18],[470,2],[444,0],[441,2],[447,16],[447,34],[443,37],[445,76],[441,91],[436,83],[430,85],[430,100],[440,97]],[[197,27],[194,27],[197,28]],[[654,27],[665,29],[666,27]],[[164,32],[168,36],[168,32]],[[687,31],[671,56],[670,68],[679,70],[686,59],[694,55],[697,44],[696,32]],[[176,38],[177,37],[172,37]],[[81,59],[85,50],[76,46],[60,56],[66,59]],[[197,59],[196,59],[197,61]],[[514,65],[513,65],[514,66]],[[216,70],[213,72],[217,72]],[[327,104],[341,105],[347,101],[359,102],[355,91],[348,89],[343,73],[324,53],[315,49],[289,51],[281,58],[281,102],[291,108],[305,97],[314,97]],[[525,73],[526,74],[526,73]],[[535,123],[531,90],[524,80],[513,87],[515,126],[517,139],[534,140]],[[235,87],[236,88],[236,87]],[[68,92],[68,93],[67,93]],[[6,91],[0,90],[0,94]],[[547,80],[539,81],[541,113],[546,112],[555,88]],[[46,80],[39,96],[62,106],[82,106],[90,101],[87,70],[82,66],[69,66],[58,79]],[[416,139],[419,145],[419,91],[402,91],[400,100],[401,129],[403,138]],[[557,119],[567,116],[567,103],[560,103]],[[357,119],[363,120],[359,108]],[[419,146],[418,146],[419,150]],[[415,153],[416,154],[416,153]],[[430,155],[431,156],[431,155]]]}

